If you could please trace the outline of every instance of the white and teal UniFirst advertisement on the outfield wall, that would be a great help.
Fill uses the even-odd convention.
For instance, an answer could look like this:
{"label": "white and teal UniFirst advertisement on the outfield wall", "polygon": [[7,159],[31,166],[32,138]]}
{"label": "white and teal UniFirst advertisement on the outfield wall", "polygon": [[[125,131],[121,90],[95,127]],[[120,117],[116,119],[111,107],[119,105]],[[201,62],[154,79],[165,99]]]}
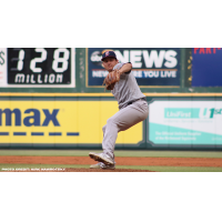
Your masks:
{"label": "white and teal UniFirst advertisement on the outfield wall", "polygon": [[149,142],[153,145],[222,145],[222,101],[153,101]]}

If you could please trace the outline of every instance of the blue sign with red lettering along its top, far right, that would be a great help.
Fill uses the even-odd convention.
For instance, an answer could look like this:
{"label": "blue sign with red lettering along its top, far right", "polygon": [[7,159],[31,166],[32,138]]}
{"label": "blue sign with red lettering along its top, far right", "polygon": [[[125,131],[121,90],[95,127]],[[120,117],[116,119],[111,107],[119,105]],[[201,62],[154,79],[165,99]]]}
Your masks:
{"label": "blue sign with red lettering along its top, far right", "polygon": [[192,58],[192,87],[222,87],[222,48],[193,48]]}

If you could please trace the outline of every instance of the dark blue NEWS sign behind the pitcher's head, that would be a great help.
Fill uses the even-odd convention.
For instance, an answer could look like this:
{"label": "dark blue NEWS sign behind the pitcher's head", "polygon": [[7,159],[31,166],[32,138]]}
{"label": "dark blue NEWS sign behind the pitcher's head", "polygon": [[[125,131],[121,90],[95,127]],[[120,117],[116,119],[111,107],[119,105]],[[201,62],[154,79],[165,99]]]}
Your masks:
{"label": "dark blue NEWS sign behind the pitcher's head", "polygon": [[120,62],[132,63],[132,74],[141,87],[180,87],[178,48],[89,48],[87,87],[102,85],[108,74],[101,62],[105,50],[114,51]]}

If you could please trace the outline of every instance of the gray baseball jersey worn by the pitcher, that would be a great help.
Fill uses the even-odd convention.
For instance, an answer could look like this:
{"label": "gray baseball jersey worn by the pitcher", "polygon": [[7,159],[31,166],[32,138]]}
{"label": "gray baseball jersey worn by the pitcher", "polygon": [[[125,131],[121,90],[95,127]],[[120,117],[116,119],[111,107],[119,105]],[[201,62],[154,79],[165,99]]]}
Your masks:
{"label": "gray baseball jersey worn by the pitcher", "polygon": [[[125,63],[118,63],[114,65],[113,70],[120,70]],[[119,109],[127,107],[129,102],[134,100],[145,98],[141,92],[134,75],[129,73],[123,73],[120,77],[120,81],[114,85],[112,94],[118,100]]]}

